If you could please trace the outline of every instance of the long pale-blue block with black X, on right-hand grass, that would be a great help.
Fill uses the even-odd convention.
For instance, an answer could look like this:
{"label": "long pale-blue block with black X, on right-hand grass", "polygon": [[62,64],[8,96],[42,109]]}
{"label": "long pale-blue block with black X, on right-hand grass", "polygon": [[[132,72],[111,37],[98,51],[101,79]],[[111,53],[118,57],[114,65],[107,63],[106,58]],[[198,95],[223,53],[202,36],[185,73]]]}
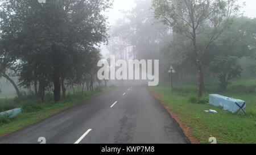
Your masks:
{"label": "long pale-blue block with black X, on right-hand grass", "polygon": [[[210,94],[209,95],[209,104],[213,104],[214,106],[217,106],[217,107],[223,107],[223,110],[237,112],[238,110],[240,110],[240,107],[236,103],[240,107],[242,107],[243,104],[245,104],[245,101],[241,100],[241,99],[224,97],[224,96],[218,95],[218,94]],[[242,109],[245,111],[246,104],[242,107]]]}

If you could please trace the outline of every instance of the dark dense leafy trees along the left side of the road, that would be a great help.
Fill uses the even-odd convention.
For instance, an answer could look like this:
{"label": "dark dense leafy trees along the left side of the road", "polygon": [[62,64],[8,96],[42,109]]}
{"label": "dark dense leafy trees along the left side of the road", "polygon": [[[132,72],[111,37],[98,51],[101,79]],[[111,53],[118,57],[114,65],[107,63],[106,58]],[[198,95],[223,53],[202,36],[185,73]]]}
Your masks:
{"label": "dark dense leafy trees along the left side of the road", "polygon": [[1,1],[1,77],[18,86],[34,87],[41,102],[52,90],[55,102],[67,86],[93,90],[101,43],[108,41],[102,11],[109,0]]}

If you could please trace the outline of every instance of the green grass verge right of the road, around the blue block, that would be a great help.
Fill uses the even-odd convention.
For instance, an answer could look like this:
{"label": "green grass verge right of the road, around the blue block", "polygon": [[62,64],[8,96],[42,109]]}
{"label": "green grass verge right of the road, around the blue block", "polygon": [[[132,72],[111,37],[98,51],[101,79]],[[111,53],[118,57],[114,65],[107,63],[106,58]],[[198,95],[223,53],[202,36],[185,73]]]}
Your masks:
{"label": "green grass verge right of the road, around the blue block", "polygon": [[[210,91],[204,93],[203,98],[208,98],[209,94],[214,93],[245,100],[246,116],[242,113],[233,114],[210,104],[189,103],[189,99],[196,95],[196,85],[193,83],[175,85],[174,95],[170,95],[168,83],[150,89],[177,114],[181,122],[191,128],[192,135],[199,143],[208,143],[209,137],[212,136],[221,144],[256,143],[256,93],[251,89],[251,87],[256,88],[256,79],[233,81],[226,91],[219,91],[213,86]],[[240,89],[241,86],[243,89]],[[247,92],[247,89],[250,91]],[[218,113],[203,112],[209,109],[217,110]]]}

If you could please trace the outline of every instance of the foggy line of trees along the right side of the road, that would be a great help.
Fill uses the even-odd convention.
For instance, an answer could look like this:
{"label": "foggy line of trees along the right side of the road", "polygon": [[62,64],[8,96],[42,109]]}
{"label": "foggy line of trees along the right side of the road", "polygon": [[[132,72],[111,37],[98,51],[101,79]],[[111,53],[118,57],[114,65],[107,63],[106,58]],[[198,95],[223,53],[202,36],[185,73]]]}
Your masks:
{"label": "foggy line of trees along the right side of the road", "polygon": [[236,0],[138,1],[112,29],[110,51],[160,59],[162,81],[170,79],[170,65],[179,79],[196,77],[199,97],[205,78],[225,90],[233,78],[255,77],[256,19],[240,8]]}

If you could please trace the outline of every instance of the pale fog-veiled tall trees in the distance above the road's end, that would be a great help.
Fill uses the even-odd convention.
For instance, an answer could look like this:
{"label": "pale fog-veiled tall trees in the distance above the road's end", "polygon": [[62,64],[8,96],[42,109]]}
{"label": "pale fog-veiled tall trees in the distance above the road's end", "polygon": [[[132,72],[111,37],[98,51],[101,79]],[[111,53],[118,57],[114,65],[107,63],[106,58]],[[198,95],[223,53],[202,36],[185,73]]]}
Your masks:
{"label": "pale fog-veiled tall trees in the distance above the road's end", "polygon": [[166,32],[159,31],[162,23],[156,23],[150,10],[150,1],[136,1],[136,6],[123,11],[123,19],[112,28],[109,51],[125,59],[127,55],[141,59],[159,57],[159,40]]}

